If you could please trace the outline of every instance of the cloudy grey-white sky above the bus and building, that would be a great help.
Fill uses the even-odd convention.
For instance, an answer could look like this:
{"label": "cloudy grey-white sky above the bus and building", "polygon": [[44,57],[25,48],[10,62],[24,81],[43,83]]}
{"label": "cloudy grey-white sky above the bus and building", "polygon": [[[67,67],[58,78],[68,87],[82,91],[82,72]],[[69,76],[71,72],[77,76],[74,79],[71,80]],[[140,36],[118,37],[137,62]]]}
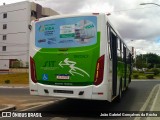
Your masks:
{"label": "cloudy grey-white sky above the bus and building", "polygon": [[[24,0],[0,0],[0,5]],[[109,19],[136,54],[160,55],[160,0],[28,0],[60,14],[110,13]]]}

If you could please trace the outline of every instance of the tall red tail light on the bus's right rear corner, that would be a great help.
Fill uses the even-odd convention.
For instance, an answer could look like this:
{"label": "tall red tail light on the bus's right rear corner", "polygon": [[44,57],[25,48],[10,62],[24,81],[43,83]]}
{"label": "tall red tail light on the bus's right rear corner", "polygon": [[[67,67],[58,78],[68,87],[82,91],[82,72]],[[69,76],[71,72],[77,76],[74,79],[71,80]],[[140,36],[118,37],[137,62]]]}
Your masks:
{"label": "tall red tail light on the bus's right rear corner", "polygon": [[101,56],[97,61],[95,77],[94,77],[94,85],[99,85],[103,81],[104,74],[104,55]]}

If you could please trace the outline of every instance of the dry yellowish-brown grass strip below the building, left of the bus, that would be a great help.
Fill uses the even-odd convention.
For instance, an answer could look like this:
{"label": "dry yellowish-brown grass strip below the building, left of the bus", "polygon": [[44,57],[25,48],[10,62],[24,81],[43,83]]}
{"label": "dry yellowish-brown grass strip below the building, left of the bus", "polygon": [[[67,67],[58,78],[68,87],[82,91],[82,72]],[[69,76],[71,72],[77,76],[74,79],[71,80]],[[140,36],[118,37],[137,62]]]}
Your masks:
{"label": "dry yellowish-brown grass strip below the building, left of the bus", "polygon": [[6,84],[5,81],[9,81],[8,84],[28,84],[28,73],[15,73],[15,74],[0,74],[0,84]]}

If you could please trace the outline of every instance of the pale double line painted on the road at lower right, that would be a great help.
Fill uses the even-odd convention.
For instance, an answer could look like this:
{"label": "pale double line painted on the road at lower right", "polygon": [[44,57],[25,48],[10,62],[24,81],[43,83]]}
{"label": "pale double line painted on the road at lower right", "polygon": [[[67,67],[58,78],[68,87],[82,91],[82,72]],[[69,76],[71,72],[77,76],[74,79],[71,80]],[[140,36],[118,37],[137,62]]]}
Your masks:
{"label": "pale double line painted on the road at lower right", "polygon": [[[160,89],[160,84],[157,84],[156,86],[154,86],[154,88],[152,89],[152,91],[151,91],[150,94],[149,94],[149,97],[147,98],[147,100],[145,101],[145,103],[143,104],[143,106],[141,107],[141,109],[139,110],[140,112],[143,112],[143,111],[146,110],[146,108],[147,108],[147,106],[148,106],[151,98],[153,98],[153,96],[154,96],[154,93],[157,92],[156,89],[158,89],[157,91],[159,91],[159,89]],[[156,93],[155,96],[157,97],[157,95],[158,95],[158,92]],[[156,97],[155,97],[155,98],[156,98]],[[150,111],[151,111],[151,109],[153,109],[153,105],[155,104],[155,101],[156,101],[156,100],[154,99],[154,101],[151,103],[152,106],[151,106],[151,108],[150,108]],[[135,117],[134,120],[140,120],[140,119],[141,119],[141,117]]]}

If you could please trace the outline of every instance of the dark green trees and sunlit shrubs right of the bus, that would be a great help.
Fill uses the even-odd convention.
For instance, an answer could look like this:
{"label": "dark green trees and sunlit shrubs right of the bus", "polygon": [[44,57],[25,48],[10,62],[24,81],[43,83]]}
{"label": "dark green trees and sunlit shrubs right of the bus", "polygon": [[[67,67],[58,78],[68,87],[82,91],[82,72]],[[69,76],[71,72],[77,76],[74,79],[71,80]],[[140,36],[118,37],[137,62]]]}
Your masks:
{"label": "dark green trees and sunlit shrubs right of the bus", "polygon": [[133,68],[132,79],[160,79],[160,56],[154,53],[137,55]]}

